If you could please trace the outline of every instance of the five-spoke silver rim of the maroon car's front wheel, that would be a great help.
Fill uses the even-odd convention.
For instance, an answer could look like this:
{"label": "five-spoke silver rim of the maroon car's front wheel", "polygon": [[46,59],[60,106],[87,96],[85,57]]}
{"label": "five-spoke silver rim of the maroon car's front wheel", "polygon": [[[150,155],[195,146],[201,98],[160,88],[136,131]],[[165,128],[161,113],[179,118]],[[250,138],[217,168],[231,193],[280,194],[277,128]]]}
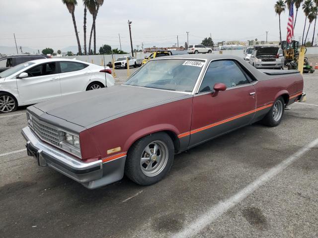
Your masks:
{"label": "five-spoke silver rim of the maroon car's front wheel", "polygon": [[154,177],[165,168],[169,157],[168,147],[160,140],[151,142],[140,158],[140,168],[144,175]]}

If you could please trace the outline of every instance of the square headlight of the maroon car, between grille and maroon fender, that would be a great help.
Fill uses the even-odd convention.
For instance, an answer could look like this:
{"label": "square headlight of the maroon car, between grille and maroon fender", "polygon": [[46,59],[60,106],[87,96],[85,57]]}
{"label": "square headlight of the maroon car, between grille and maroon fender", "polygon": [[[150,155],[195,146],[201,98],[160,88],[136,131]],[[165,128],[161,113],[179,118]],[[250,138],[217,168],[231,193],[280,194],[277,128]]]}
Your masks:
{"label": "square headlight of the maroon car, between grille and maroon fender", "polygon": [[60,147],[63,150],[68,151],[71,154],[81,158],[80,146],[79,146],[79,135],[59,129],[59,137],[60,137]]}

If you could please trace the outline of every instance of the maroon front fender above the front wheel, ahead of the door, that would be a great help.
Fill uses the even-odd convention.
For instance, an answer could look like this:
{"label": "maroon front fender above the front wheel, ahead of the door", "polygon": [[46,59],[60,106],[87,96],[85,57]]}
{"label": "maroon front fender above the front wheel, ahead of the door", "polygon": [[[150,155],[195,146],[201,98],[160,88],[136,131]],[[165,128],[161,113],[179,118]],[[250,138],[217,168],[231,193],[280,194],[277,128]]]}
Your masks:
{"label": "maroon front fender above the front wheel, ahead of the door", "polygon": [[[189,131],[192,97],[156,106],[89,128],[101,158],[126,153],[139,138],[158,131],[169,130],[176,136]],[[189,136],[182,137],[180,147],[188,146]],[[121,147],[121,151],[107,154],[107,150]]]}

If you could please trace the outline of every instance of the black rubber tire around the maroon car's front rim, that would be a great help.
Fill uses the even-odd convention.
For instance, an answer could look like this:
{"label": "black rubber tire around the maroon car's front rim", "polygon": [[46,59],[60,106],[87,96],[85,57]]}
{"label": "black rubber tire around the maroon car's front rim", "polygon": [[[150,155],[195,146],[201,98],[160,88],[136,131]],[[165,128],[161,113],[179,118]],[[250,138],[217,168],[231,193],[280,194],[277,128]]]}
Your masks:
{"label": "black rubber tire around the maroon car's front rim", "polygon": [[[157,164],[158,167],[153,167],[154,170],[157,168],[160,169],[158,171],[159,174],[153,175],[153,176],[147,176],[145,172],[146,168],[144,168],[144,170],[142,170],[142,157],[147,156],[148,154],[145,152],[146,148],[149,148],[149,145],[151,145],[153,142],[159,142],[165,145],[165,149],[166,149],[166,156],[162,156],[160,162]],[[159,150],[158,150],[159,151]],[[153,151],[152,151],[153,152]],[[161,152],[159,152],[161,153]],[[164,155],[164,153],[162,153]],[[161,155],[162,155],[161,154]],[[155,155],[155,154],[153,154]],[[152,156],[153,156],[152,155]],[[151,157],[149,158],[150,161]],[[160,156],[157,155],[156,156]],[[163,160],[163,157],[165,158]],[[132,181],[140,184],[140,185],[150,185],[150,184],[154,184],[158,181],[160,181],[161,179],[163,179],[169,172],[171,165],[173,163],[173,158],[174,158],[174,146],[173,146],[173,142],[171,140],[171,138],[164,132],[157,132],[154,134],[150,134],[147,135],[139,140],[137,140],[129,149],[128,154],[127,154],[127,158],[126,158],[126,163],[125,163],[125,175],[131,179]],[[156,160],[156,158],[155,158]],[[165,163],[164,163],[165,161]],[[152,162],[153,163],[157,163],[157,161]],[[146,163],[146,162],[145,162]],[[161,163],[161,164],[160,164]],[[156,171],[155,171],[156,172]],[[150,171],[151,173],[151,171]]]}

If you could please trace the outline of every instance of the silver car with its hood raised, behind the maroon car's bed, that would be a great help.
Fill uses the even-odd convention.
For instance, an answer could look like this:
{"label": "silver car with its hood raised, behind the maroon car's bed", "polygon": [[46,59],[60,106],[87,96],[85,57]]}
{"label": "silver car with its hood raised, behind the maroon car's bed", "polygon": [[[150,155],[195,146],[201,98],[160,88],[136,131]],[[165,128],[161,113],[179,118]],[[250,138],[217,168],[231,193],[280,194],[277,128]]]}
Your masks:
{"label": "silver car with its hood raised, behind the maroon car's bed", "polygon": [[249,59],[255,68],[283,68],[285,57],[279,47],[260,47],[255,49]]}

